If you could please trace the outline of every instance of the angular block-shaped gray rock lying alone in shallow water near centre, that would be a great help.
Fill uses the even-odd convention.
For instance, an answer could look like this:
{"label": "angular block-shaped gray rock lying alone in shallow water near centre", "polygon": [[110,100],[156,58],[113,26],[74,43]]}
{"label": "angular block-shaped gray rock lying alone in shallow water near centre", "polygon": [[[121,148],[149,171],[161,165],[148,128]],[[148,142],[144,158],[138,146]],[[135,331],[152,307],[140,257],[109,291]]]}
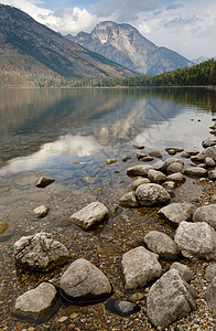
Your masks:
{"label": "angular block-shaped gray rock lying alone in shallow water near centre", "polygon": [[90,229],[109,218],[108,209],[100,202],[91,202],[71,216],[72,223],[84,229]]}

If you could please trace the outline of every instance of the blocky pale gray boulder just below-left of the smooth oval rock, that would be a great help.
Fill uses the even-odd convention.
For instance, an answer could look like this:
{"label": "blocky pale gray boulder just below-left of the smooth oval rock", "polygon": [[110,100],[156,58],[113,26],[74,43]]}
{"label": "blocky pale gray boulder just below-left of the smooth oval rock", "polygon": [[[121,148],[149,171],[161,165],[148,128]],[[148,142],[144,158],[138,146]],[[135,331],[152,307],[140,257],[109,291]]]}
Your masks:
{"label": "blocky pale gray boulder just below-left of the smooth oval rock", "polygon": [[125,253],[121,260],[125,288],[132,290],[144,287],[149,281],[161,276],[162,267],[158,254],[139,246]]}

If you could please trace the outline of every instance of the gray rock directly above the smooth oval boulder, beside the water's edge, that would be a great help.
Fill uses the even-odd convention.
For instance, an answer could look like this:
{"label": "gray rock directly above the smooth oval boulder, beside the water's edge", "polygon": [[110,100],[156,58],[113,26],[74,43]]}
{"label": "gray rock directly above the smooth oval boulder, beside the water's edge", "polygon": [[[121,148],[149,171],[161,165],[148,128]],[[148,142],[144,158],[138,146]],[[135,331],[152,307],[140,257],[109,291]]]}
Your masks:
{"label": "gray rock directly above the smooth oval boulder, beside the water's edge", "polygon": [[159,211],[159,215],[173,225],[183,221],[191,221],[194,213],[194,205],[191,203],[171,203]]}

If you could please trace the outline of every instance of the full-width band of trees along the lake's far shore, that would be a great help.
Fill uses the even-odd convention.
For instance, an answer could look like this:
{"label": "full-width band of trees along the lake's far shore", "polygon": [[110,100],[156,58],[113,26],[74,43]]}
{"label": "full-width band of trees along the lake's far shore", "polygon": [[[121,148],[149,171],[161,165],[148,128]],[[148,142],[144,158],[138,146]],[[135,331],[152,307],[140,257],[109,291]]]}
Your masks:
{"label": "full-width band of trees along the lake's far shore", "polygon": [[214,58],[202,62],[191,67],[177,68],[160,75],[132,76],[125,78],[65,78],[57,74],[37,76],[31,72],[2,71],[0,88],[2,87],[66,87],[66,88],[91,88],[91,87],[202,87],[216,86],[216,61]]}

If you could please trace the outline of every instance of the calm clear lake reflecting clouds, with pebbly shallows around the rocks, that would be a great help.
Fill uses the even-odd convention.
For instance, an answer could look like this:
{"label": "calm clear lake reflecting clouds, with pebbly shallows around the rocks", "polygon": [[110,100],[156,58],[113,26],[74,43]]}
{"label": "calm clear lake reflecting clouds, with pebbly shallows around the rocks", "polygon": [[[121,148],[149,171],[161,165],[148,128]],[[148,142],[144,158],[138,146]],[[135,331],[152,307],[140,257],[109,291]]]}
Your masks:
{"label": "calm clear lake reflecting clouds, with pebbly shallows around the rocks", "polygon": [[[202,150],[202,141],[214,138],[209,126],[215,114],[216,92],[207,88],[1,89],[0,222],[9,222],[11,231],[0,237],[0,327],[12,330],[17,324],[10,311],[19,295],[41,280],[58,279],[62,273],[60,268],[41,275],[17,267],[13,244],[22,235],[52,232],[73,259],[85,257],[100,266],[122,295],[115,261],[128,249],[129,241],[149,229],[164,228],[156,223],[154,210],[116,212],[131,182],[126,170],[138,164],[140,151],[132,145],[144,145],[144,153],[161,149],[163,160],[170,146]],[[123,162],[126,157],[130,159]],[[107,159],[117,162],[106,164]],[[35,188],[42,175],[55,182],[44,190]],[[199,194],[202,188],[187,179],[175,189],[173,201],[192,201]],[[85,233],[68,216],[93,201],[105,203],[111,217],[98,231]],[[48,205],[50,213],[39,220],[33,209],[41,204]],[[173,233],[168,225],[165,232]],[[106,321],[102,309],[97,307]],[[83,307],[73,311],[88,313]],[[53,318],[46,325],[55,322]]]}

